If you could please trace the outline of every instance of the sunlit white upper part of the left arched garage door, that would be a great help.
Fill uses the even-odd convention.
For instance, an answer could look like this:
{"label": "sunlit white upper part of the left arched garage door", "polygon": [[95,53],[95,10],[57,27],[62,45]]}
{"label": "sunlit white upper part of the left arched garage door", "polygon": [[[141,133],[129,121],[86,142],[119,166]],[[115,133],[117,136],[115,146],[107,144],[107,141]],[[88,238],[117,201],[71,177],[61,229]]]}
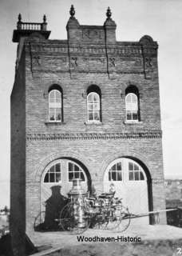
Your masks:
{"label": "sunlit white upper part of the left arched garage door", "polygon": [[81,178],[81,186],[88,190],[88,175],[81,165],[66,158],[57,159],[46,166],[41,180],[41,210],[45,210],[45,201],[52,194],[52,187],[61,186],[61,194],[67,197],[73,178]]}

